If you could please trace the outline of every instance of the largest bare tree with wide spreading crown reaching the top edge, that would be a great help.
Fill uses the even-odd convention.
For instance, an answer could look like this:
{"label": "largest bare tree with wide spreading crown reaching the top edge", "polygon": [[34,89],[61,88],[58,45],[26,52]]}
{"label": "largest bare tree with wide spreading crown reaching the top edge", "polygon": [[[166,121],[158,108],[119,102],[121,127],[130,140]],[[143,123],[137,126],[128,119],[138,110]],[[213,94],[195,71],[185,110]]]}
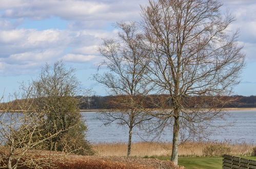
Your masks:
{"label": "largest bare tree with wide spreading crown reaching the top edge", "polygon": [[142,7],[144,49],[151,60],[147,77],[167,94],[169,105],[151,114],[171,119],[171,161],[175,164],[180,129],[196,134],[196,129],[220,117],[223,112],[216,108],[229,101],[222,96],[230,95],[244,67],[238,32],[228,30],[234,17],[222,15],[221,6],[216,0],[158,0]]}

